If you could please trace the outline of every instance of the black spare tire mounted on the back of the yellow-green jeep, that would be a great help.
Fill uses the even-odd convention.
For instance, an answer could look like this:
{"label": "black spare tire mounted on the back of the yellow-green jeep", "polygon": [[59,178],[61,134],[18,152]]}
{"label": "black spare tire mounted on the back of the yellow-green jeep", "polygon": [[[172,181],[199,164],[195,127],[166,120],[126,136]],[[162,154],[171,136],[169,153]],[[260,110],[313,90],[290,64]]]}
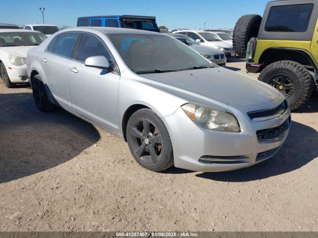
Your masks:
{"label": "black spare tire mounted on the back of the yellow-green jeep", "polygon": [[246,57],[247,43],[257,37],[262,17],[260,15],[241,16],[233,32],[233,47],[240,58]]}

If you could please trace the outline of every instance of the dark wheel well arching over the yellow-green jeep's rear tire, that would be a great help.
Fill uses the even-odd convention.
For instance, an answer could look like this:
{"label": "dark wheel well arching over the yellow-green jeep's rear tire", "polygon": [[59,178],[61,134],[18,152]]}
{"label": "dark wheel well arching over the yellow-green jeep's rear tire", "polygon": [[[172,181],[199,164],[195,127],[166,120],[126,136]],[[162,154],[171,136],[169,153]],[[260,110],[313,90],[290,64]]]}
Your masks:
{"label": "dark wheel well arching over the yellow-green jeep's rear tire", "polygon": [[312,71],[314,71],[314,69],[317,69],[316,64],[310,57],[309,53],[297,49],[267,49],[262,53],[261,57],[259,58],[259,63],[263,63],[263,68],[265,68],[267,65],[271,63],[282,60],[298,62]]}

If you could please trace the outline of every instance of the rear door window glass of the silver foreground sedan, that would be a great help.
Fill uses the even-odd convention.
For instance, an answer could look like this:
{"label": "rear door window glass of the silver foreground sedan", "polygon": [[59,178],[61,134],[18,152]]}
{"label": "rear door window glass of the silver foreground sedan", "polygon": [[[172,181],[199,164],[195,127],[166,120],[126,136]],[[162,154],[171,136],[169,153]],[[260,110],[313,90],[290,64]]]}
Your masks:
{"label": "rear door window glass of the silver foreground sedan", "polygon": [[53,53],[65,56],[68,58],[72,57],[73,48],[79,37],[79,33],[67,33],[59,35]]}

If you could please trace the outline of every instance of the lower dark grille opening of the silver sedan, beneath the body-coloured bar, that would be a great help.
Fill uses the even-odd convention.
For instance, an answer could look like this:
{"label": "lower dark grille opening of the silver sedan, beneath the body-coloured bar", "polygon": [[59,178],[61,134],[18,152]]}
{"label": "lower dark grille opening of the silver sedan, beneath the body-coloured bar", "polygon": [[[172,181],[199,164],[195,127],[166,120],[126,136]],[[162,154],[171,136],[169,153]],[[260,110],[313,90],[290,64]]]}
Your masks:
{"label": "lower dark grille opening of the silver sedan, beneath the body-coloured bar", "polygon": [[285,122],[279,126],[258,130],[256,131],[257,140],[260,143],[275,142],[282,139],[284,132],[289,127],[290,119],[285,120]]}

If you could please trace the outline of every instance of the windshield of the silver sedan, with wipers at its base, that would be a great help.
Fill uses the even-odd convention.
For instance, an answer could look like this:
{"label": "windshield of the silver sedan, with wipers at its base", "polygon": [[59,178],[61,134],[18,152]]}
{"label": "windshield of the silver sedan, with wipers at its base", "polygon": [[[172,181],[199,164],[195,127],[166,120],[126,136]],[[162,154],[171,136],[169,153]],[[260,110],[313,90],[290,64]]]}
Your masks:
{"label": "windshield of the silver sedan, with wipers at its base", "polygon": [[191,48],[166,35],[107,34],[128,66],[137,73],[211,67]]}

